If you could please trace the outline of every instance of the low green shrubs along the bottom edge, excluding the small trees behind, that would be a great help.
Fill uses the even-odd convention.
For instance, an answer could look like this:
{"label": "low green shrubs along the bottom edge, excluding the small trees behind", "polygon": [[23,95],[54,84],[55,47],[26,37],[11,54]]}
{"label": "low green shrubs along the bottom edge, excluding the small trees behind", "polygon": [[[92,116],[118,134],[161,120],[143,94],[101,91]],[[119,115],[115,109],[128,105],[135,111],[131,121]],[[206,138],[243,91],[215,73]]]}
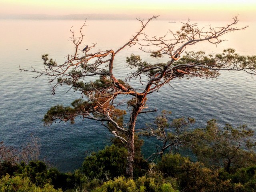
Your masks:
{"label": "low green shrubs along the bottom edge, excluding the small trees behind", "polygon": [[[122,158],[122,155],[126,155]],[[55,192],[251,192],[256,191],[256,166],[239,168],[229,174],[223,168],[215,171],[200,162],[191,162],[180,154],[164,154],[151,164],[144,176],[124,178],[127,152],[114,145],[87,157],[83,168],[74,173],[47,169],[43,162],[22,163],[19,170],[2,176],[0,191]],[[112,164],[114,162],[114,164]],[[86,167],[84,167],[86,166]],[[90,167],[88,167],[90,166]],[[122,167],[123,166],[123,167]],[[85,169],[92,175],[84,174]],[[95,171],[95,172],[94,172]],[[115,174],[115,175],[114,175]],[[113,178],[112,180],[109,180]],[[102,179],[106,182],[102,183]],[[62,188],[62,190],[56,190]]]}

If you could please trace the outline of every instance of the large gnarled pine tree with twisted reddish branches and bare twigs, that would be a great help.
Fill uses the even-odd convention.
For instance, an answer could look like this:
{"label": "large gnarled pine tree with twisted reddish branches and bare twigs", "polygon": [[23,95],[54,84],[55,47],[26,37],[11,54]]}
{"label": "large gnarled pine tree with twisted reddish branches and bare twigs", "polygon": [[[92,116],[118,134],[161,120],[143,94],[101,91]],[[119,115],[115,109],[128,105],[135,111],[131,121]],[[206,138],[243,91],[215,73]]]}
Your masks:
{"label": "large gnarled pine tree with twisted reddish branches and bare twigs", "polygon": [[[61,104],[53,106],[44,116],[45,124],[52,124],[55,120],[70,120],[74,123],[77,116],[102,122],[102,125],[110,130],[116,137],[127,144],[128,160],[126,173],[133,175],[134,164],[134,132],[136,120],[139,114],[153,112],[153,108],[147,109],[147,95],[159,90],[165,84],[170,84],[176,78],[216,78],[221,70],[246,71],[256,74],[256,56],[241,56],[234,49],[226,49],[220,54],[206,55],[204,52],[186,52],[188,46],[198,42],[209,42],[218,45],[224,39],[222,37],[230,32],[244,30],[248,26],[237,27],[238,18],[226,26],[213,28],[199,28],[197,23],[181,23],[180,30],[169,30],[164,36],[148,36],[144,29],[150,21],[157,19],[152,16],[148,20],[138,21],[141,28],[126,44],[117,50],[96,50],[96,43],[88,45],[81,56],[82,42],[84,40],[83,28],[80,28],[80,36],[75,36],[71,31],[71,41],[74,44],[74,53],[68,54],[66,62],[57,64],[50,59],[48,54],[42,55],[44,70],[32,70],[38,76],[48,76],[53,85],[52,94],[55,94],[59,85],[68,85],[70,89],[80,91],[84,98],[79,98],[72,106]],[[113,73],[115,68],[115,55],[125,47],[139,45],[139,49],[148,52],[153,58],[166,56],[165,63],[151,64],[142,61],[140,56],[132,54],[126,58],[127,66],[133,70],[126,74],[125,79],[116,78]],[[37,77],[38,77],[37,76]],[[96,79],[96,80],[95,80]],[[142,79],[144,83],[142,83]],[[144,88],[138,90],[129,84],[129,80],[135,80]],[[146,81],[146,83],[145,83]],[[120,96],[126,98],[120,101]],[[125,110],[118,108],[120,104],[127,104],[130,119],[123,122]]]}

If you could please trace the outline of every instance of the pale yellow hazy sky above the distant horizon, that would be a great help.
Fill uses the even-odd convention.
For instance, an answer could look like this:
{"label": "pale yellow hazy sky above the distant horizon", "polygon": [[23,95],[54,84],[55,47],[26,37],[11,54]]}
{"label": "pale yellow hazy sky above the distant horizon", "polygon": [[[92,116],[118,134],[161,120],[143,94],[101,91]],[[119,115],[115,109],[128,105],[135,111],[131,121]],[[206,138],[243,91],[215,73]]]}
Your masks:
{"label": "pale yellow hazy sky above the distant horizon", "polygon": [[255,20],[256,0],[0,0],[1,14],[155,14],[170,19]]}

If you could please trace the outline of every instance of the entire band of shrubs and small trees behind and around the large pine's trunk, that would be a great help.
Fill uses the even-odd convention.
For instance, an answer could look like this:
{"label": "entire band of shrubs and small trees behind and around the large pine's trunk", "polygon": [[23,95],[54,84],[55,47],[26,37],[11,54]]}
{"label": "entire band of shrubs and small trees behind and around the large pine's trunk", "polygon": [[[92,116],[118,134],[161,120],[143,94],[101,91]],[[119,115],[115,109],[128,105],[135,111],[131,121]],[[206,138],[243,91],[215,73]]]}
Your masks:
{"label": "entire band of shrubs and small trees behind and around the large pine's trunk", "polygon": [[[256,191],[256,145],[254,132],[246,126],[219,128],[210,120],[205,129],[188,130],[185,118],[168,123],[166,113],[150,125],[151,133],[173,140],[183,135],[182,147],[196,155],[196,162],[172,148],[158,154],[154,162],[140,152],[142,140],[136,137],[134,178],[126,177],[127,149],[113,139],[111,146],[86,156],[80,169],[61,173],[34,158],[31,146],[38,146],[32,137],[21,150],[0,145],[1,192],[251,192]],[[153,127],[155,126],[155,129]],[[186,130],[186,131],[185,131]],[[142,134],[146,134],[143,132]],[[155,137],[155,136],[154,136]],[[159,139],[160,137],[158,137]],[[162,140],[164,143],[166,140]],[[180,140],[179,140],[180,141]],[[170,143],[170,141],[169,141]],[[38,147],[34,147],[38,151]],[[162,149],[162,148],[160,148]],[[161,152],[161,150],[160,150]],[[27,155],[25,155],[27,154]],[[24,156],[30,154],[31,161]],[[33,154],[33,155],[31,155]],[[27,160],[27,158],[25,158]]]}

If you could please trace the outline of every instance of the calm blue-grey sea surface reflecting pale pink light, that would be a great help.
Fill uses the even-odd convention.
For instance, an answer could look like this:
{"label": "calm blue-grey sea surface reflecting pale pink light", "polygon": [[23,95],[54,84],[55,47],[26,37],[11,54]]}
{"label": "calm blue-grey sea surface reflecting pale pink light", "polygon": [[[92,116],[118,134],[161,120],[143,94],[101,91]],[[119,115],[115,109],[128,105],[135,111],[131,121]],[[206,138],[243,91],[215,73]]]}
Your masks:
{"label": "calm blue-grey sea surface reflecting pale pink light", "polygon": [[[200,26],[222,26],[227,22],[198,23]],[[19,66],[40,69],[41,55],[45,53],[57,63],[64,62],[65,56],[72,54],[74,49],[68,41],[70,27],[73,26],[78,32],[82,24],[81,20],[0,20],[0,141],[18,147],[33,133],[40,138],[41,157],[46,157],[61,171],[73,171],[81,166],[86,152],[104,148],[112,135],[100,123],[80,118],[74,125],[61,122],[45,127],[42,118],[51,106],[70,105],[74,99],[80,98],[80,93],[66,93],[68,88],[60,87],[52,96],[47,78],[34,79],[36,74],[20,72]],[[140,28],[136,20],[90,20],[86,24],[84,44],[97,42],[96,50],[116,50]],[[218,48],[201,43],[187,50],[219,53],[225,48],[235,48],[240,54],[256,54],[256,25],[250,22],[239,24],[245,25],[250,27],[224,36],[228,41]],[[164,35],[168,29],[176,31],[179,26],[178,22],[154,21],[146,32]],[[131,53],[141,54],[143,59],[152,63],[167,61],[165,58],[154,60],[136,47],[126,48],[118,53],[114,63],[114,72],[119,78],[124,78],[128,72],[125,60]],[[195,118],[195,127],[203,128],[208,120],[214,118],[220,125],[247,124],[256,129],[256,79],[250,75],[222,72],[217,80],[181,79],[172,81],[171,86],[164,86],[149,96],[149,108],[157,108],[158,112],[140,116],[137,128],[143,128],[146,122],[153,122],[154,116],[165,109],[172,111],[171,118]],[[145,144],[144,153],[148,156],[155,149],[154,140],[147,139]]]}

